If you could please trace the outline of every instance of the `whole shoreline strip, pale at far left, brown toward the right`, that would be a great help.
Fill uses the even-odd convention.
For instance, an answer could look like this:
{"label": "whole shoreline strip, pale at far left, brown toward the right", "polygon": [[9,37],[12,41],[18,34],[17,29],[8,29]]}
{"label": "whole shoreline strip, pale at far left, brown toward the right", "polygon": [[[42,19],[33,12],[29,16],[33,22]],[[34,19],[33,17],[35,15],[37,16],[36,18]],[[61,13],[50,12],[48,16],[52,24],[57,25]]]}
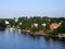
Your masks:
{"label": "whole shoreline strip, pale at far left, brown toward the right", "polygon": [[[12,28],[11,30],[18,30],[18,29],[17,28]],[[47,32],[43,32],[43,30],[30,32],[30,30],[26,30],[26,29],[21,29],[21,33],[29,34],[29,35],[32,35],[32,36],[44,36],[44,37],[53,37],[53,38],[65,38],[65,36],[62,36],[62,35],[49,35]]]}

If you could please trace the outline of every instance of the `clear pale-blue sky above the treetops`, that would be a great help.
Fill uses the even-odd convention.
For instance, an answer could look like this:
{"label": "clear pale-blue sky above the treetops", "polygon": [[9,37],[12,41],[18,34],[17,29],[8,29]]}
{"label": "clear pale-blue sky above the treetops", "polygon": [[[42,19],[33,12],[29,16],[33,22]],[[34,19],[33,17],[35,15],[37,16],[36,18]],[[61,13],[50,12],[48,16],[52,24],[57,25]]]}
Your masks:
{"label": "clear pale-blue sky above the treetops", "polygon": [[0,19],[65,17],[65,0],[0,0]]}

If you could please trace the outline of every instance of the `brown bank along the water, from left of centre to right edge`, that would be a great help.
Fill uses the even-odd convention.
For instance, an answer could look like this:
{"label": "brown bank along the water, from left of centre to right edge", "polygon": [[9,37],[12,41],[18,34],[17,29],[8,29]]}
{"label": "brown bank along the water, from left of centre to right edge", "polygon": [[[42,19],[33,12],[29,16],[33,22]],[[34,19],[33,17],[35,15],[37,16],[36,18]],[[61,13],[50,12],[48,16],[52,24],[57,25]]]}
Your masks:
{"label": "brown bank along the water, from left of centre to right edge", "polygon": [[64,36],[61,35],[49,35],[46,32],[30,32],[30,30],[23,30],[22,33],[29,34],[32,36],[47,36],[47,37],[53,37],[53,38],[65,38]]}

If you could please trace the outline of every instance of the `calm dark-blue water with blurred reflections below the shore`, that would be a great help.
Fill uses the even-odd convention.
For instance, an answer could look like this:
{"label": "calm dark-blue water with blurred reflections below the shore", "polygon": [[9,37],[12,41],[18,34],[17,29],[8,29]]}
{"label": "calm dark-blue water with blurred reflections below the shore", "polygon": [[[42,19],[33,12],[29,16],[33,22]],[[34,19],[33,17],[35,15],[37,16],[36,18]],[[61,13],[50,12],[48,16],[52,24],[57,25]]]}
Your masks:
{"label": "calm dark-blue water with blurred reflections below the shore", "polygon": [[65,49],[65,41],[23,33],[0,32],[0,49]]}

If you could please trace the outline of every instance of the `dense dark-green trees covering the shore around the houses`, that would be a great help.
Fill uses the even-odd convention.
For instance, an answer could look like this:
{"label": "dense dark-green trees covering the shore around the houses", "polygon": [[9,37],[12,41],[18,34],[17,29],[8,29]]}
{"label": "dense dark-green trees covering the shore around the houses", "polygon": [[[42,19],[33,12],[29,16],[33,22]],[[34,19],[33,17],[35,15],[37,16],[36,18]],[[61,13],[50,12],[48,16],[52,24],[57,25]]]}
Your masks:
{"label": "dense dark-green trees covering the shore around the houses", "polygon": [[[15,22],[17,20],[17,22]],[[0,19],[0,28],[6,27],[6,24],[4,21],[9,21],[11,24],[11,27],[14,26],[16,28],[21,29],[29,29],[31,32],[36,30],[49,30],[50,25],[52,23],[60,23],[62,22],[61,26],[56,29],[58,33],[65,33],[65,17],[48,17],[48,16],[34,16],[34,17],[18,17],[18,19]],[[35,27],[34,24],[38,24],[38,27]],[[46,26],[42,26],[42,24],[46,24]]]}

